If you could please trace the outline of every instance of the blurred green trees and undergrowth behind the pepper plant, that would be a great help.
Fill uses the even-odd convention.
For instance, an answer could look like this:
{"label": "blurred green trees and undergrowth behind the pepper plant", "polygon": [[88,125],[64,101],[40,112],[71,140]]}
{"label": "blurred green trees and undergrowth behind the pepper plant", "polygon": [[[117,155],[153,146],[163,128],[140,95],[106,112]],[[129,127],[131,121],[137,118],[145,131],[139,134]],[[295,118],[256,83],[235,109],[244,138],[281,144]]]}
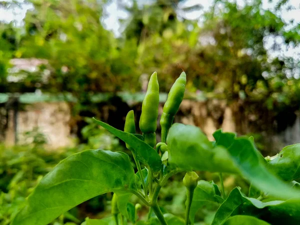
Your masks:
{"label": "blurred green trees and undergrowth behind the pepper plant", "polygon": [[[0,92],[71,94],[76,99],[70,102],[73,117],[83,127],[77,135],[84,140],[75,148],[53,152],[45,149],[42,134],[33,130],[26,133],[30,144],[0,145],[0,225],[9,223],[32,187],[67,155],[87,148],[124,150],[123,144],[87,117],[97,113],[99,104],[93,99],[98,93],[144,90],[143,74],[157,71],[160,90],[167,92],[182,67],[188,75],[186,97],[200,92],[278,114],[299,109],[300,24],[281,16],[283,10],[293,9],[293,1],[212,0],[209,7],[198,2],[0,1],[3,10],[31,5],[21,22],[0,21]],[[265,2],[273,2],[272,7],[263,7]],[[119,27],[105,23],[111,3],[117,6],[113,13],[127,15],[118,17]],[[195,18],[187,16],[190,13]],[[43,63],[37,70],[16,72],[11,63],[15,58],[38,58]],[[119,101],[115,98],[109,104],[115,102]],[[127,105],[121,108],[129,110]],[[108,123],[121,128],[122,121],[115,118]],[[218,181],[215,174],[199,175]],[[182,177],[174,176],[159,196],[163,207],[178,215],[183,214],[185,200]],[[244,180],[228,175],[227,191],[234,185],[248,188]],[[103,217],[110,199],[109,193],[84,202],[53,224]],[[201,210],[199,224],[209,224],[213,213],[209,208]]]}

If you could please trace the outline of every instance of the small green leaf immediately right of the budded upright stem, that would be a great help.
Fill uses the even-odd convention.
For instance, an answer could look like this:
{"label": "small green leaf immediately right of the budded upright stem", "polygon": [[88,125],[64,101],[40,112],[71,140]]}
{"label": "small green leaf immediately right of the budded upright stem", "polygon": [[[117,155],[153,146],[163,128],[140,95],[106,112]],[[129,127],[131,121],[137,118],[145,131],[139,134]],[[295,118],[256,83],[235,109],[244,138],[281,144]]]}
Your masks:
{"label": "small green leaf immediately right of the budded upright stem", "polygon": [[198,209],[211,207],[214,210],[219,206],[218,199],[215,198],[215,187],[212,183],[205,180],[199,180],[194,189],[193,198],[190,206],[189,219],[194,222],[194,217]]}

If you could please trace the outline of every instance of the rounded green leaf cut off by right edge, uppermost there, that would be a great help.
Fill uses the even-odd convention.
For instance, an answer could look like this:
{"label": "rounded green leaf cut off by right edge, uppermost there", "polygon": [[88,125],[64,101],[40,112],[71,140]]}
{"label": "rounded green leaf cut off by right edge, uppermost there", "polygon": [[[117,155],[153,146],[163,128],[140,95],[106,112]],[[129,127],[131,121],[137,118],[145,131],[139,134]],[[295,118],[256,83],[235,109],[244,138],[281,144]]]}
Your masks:
{"label": "rounded green leaf cut off by right edge, uppermost there", "polygon": [[300,143],[288,145],[268,162],[269,168],[284,180],[300,177]]}

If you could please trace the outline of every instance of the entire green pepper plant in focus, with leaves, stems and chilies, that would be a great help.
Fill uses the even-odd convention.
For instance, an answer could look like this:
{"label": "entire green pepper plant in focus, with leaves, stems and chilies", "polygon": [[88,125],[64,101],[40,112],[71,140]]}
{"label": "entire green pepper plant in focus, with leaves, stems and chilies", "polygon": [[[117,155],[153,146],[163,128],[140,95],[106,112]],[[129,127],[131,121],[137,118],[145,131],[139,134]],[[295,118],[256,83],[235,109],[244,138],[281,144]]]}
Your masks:
{"label": "entire green pepper plant in focus, with leaves, stems and chilies", "polygon": [[[212,225],[220,224],[300,224],[300,144],[286,146],[277,155],[263,157],[253,138],[216,130],[209,141],[196,126],[174,123],[186,83],[182,72],[171,87],[160,119],[161,142],[156,143],[159,87],[157,74],[149,80],[139,120],[142,135],[135,133],[134,112],[128,112],[124,131],[94,119],[100,126],[126,143],[137,168],[134,173],[124,152],[85,150],[59,162],[28,196],[12,225],[46,225],[81,202],[114,192],[111,217],[89,219],[85,225],[100,224],[193,224],[198,209],[216,205]],[[169,177],[186,172],[185,218],[162,213],[158,193]],[[219,173],[220,186],[212,180],[198,180],[195,171]],[[222,173],[235,173],[248,180],[249,192],[239,187],[225,195]],[[156,216],[137,218],[135,206],[128,202],[136,195]]]}

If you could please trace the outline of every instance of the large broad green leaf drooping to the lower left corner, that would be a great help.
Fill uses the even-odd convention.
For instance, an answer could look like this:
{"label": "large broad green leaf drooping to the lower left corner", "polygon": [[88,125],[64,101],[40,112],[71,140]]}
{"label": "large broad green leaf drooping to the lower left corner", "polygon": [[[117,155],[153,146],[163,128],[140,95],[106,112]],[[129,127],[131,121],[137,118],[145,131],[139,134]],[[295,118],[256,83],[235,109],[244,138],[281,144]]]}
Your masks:
{"label": "large broad green leaf drooping to the lower left corner", "polygon": [[11,225],[43,225],[81,202],[106,192],[135,190],[123,152],[86,150],[59,162],[29,195]]}

